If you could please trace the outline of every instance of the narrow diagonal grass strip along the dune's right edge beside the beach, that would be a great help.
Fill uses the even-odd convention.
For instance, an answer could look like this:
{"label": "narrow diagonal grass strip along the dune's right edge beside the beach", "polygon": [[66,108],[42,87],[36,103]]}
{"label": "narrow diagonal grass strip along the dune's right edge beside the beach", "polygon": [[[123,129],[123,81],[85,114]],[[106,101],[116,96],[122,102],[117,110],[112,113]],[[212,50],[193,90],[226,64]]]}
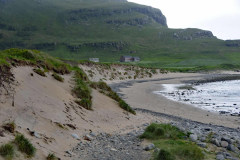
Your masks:
{"label": "narrow diagonal grass strip along the dune's right edge beside the beach", "polygon": [[119,95],[116,92],[114,92],[111,89],[111,87],[109,87],[105,82],[102,82],[102,81],[100,81],[100,82],[91,82],[90,83],[90,87],[92,87],[94,89],[97,89],[100,93],[103,93],[103,94],[109,96],[110,98],[114,99],[115,101],[117,101],[118,105],[122,109],[124,109],[124,110],[126,110],[126,111],[128,111],[128,112],[130,112],[130,113],[132,113],[134,115],[136,114],[136,112],[124,100],[122,100],[119,97]]}

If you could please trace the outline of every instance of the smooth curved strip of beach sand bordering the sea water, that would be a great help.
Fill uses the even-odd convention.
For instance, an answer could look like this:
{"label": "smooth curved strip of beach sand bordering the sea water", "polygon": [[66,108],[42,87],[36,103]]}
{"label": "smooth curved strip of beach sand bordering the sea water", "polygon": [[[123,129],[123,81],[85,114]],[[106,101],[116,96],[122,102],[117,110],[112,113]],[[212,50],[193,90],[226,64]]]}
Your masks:
{"label": "smooth curved strip of beach sand bordering the sea water", "polygon": [[173,115],[184,119],[189,119],[205,124],[213,124],[218,126],[225,126],[229,128],[240,127],[240,119],[238,117],[229,115],[220,115],[190,104],[175,102],[168,98],[156,95],[153,91],[162,90],[161,84],[164,83],[189,83],[211,79],[212,77],[228,77],[228,74],[198,74],[189,75],[182,74],[182,76],[164,77],[152,80],[135,80],[125,81],[120,83],[112,83],[110,86],[116,91],[127,103],[136,110],[149,110],[157,113]]}

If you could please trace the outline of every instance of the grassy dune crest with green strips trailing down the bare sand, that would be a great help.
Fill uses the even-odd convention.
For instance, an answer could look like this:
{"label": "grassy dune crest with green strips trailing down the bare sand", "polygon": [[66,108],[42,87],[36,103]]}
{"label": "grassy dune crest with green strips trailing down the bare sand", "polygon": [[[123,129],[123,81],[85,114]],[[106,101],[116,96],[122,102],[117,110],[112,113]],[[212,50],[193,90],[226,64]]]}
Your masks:
{"label": "grassy dune crest with green strips trailing down the bare sand", "polygon": [[[46,77],[46,72],[51,71],[53,72],[53,78],[60,82],[64,81],[61,75],[74,72],[75,86],[72,89],[72,93],[76,97],[75,102],[88,110],[92,110],[91,87],[97,88],[93,87],[93,82],[89,80],[87,74],[79,67],[71,66],[37,50],[12,48],[0,51],[0,87],[3,83],[13,81],[14,75],[11,74],[11,67],[25,65],[34,67],[33,71],[43,77]],[[135,111],[113,92],[106,83],[99,82],[99,84],[104,84],[104,87],[107,87],[110,91],[107,95],[116,100],[121,108],[135,114]]]}

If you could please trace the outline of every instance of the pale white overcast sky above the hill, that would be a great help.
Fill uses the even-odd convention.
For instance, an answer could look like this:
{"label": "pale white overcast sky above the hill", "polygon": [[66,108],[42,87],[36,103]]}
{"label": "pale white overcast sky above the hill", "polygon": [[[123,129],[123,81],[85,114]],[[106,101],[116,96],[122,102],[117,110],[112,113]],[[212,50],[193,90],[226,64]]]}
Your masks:
{"label": "pale white overcast sky above the hill", "polygon": [[169,28],[200,28],[220,39],[240,39],[240,0],[128,1],[159,8]]}

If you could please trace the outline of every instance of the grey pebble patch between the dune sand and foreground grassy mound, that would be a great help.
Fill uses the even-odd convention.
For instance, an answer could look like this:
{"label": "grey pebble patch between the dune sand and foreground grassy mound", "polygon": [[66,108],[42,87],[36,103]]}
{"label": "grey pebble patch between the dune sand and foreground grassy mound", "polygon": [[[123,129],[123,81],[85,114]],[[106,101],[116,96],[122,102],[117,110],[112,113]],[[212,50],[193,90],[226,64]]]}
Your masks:
{"label": "grey pebble patch between the dune sand and foreground grassy mound", "polygon": [[[73,160],[146,160],[151,158],[150,152],[143,152],[141,140],[136,132],[128,134],[100,133],[91,141],[80,142],[74,149]],[[93,154],[94,153],[94,154]]]}

